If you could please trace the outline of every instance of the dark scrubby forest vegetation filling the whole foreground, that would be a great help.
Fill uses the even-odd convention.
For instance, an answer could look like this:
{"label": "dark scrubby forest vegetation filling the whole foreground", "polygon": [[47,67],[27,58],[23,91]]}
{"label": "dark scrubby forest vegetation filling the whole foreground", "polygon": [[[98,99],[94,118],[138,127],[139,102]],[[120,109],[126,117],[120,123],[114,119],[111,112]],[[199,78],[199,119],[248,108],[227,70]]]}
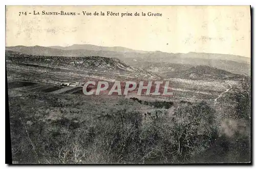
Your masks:
{"label": "dark scrubby forest vegetation filling the whole foreground", "polygon": [[[13,161],[249,162],[250,132],[243,132],[250,129],[250,105],[244,100],[250,99],[247,89],[245,86],[240,93],[232,95],[241,100],[233,104],[236,110],[233,114],[237,116],[232,115],[232,119],[227,115],[228,122],[226,116],[220,117],[206,102],[174,105],[122,97],[10,95]],[[161,108],[163,105],[165,107]],[[170,114],[168,108],[173,106]],[[231,123],[242,121],[242,132],[239,125],[234,127]],[[212,161],[218,157],[211,158],[210,154],[221,159]]]}

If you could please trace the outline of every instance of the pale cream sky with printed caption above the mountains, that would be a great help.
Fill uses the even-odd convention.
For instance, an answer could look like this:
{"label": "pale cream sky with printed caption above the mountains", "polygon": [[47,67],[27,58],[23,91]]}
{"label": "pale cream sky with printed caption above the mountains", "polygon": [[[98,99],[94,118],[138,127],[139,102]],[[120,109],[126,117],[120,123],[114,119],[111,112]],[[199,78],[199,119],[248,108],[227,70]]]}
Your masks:
{"label": "pale cream sky with printed caption above the mountains", "polygon": [[[39,12],[40,15],[33,15]],[[41,15],[76,12],[80,15]],[[84,16],[82,11],[92,13]],[[106,12],[119,16],[106,16]],[[19,12],[27,12],[27,15]],[[31,14],[28,14],[31,12]],[[99,16],[93,13],[98,12]],[[104,12],[104,16],[100,15]],[[132,13],[123,16],[121,13]],[[140,16],[134,16],[138,12]],[[146,16],[141,16],[141,13]],[[162,16],[147,16],[148,12]],[[7,6],[6,46],[93,44],[250,57],[249,6]]]}

